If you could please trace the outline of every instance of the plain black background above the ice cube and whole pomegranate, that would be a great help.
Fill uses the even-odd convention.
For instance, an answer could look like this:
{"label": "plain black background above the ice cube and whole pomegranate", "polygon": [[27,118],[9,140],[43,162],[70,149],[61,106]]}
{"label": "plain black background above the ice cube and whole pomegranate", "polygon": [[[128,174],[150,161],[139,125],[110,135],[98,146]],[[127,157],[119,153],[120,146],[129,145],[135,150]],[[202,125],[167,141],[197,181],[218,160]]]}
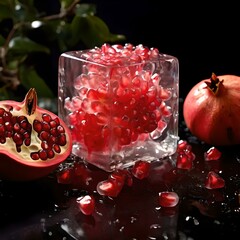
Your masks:
{"label": "plain black background above the ice cube and whole pomegranate", "polygon": [[126,42],[156,47],[179,60],[180,96],[198,81],[240,75],[240,10],[223,1],[88,0],[112,33]]}

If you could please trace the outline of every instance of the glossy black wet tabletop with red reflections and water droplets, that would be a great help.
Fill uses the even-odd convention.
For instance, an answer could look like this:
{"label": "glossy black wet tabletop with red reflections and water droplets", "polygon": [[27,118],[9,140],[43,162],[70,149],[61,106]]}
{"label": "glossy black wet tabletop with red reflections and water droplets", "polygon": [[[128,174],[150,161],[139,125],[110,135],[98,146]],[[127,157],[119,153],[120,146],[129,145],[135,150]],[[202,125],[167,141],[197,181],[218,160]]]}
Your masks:
{"label": "glossy black wet tabletop with red reflections and water droplets", "polygon": [[[71,169],[72,159],[49,176],[31,182],[0,181],[0,239],[239,239],[240,148],[220,148],[217,161],[205,161],[211,147],[199,142],[179,122],[180,139],[187,140],[196,158],[191,169],[178,169],[172,159],[155,162],[145,179],[133,178],[117,197],[102,196],[97,184],[108,178],[96,167],[59,182],[59,170]],[[78,166],[83,166],[77,162]],[[219,189],[205,187],[216,171],[225,181]],[[175,207],[159,206],[159,192],[174,191]],[[91,194],[96,201],[86,216],[77,203]]]}

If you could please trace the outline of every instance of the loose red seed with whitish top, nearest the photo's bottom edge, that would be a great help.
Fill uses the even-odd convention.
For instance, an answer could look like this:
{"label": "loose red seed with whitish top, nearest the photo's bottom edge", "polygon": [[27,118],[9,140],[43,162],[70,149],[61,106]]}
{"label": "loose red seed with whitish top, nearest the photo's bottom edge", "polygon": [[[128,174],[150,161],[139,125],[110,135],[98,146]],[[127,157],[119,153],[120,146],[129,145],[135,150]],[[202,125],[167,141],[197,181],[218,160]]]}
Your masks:
{"label": "loose red seed with whitish top, nearest the photo's bottom edge", "polygon": [[90,195],[85,195],[77,198],[77,203],[80,211],[84,215],[92,215],[95,210],[95,199]]}

